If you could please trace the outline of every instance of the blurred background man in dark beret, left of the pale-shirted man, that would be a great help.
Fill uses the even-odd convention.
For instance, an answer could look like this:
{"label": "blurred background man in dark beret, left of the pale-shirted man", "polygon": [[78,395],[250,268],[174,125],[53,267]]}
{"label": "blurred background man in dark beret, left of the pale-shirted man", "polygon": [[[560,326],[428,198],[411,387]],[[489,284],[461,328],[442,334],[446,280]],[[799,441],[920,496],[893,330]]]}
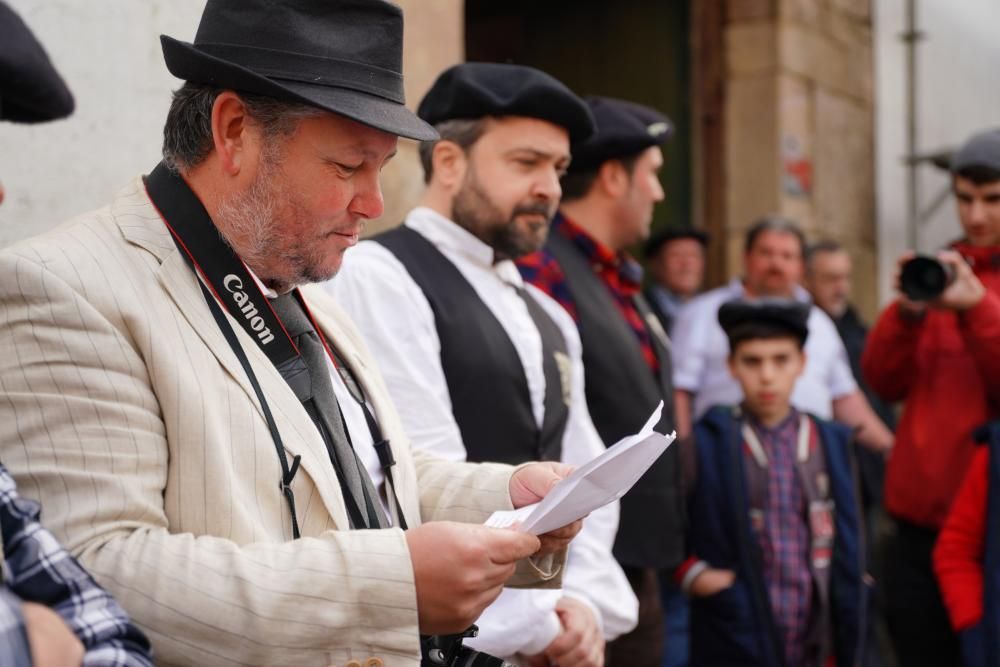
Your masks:
{"label": "blurred background man in dark beret, left of the pale-shirted man", "polygon": [[690,227],[662,229],[643,245],[651,279],[644,294],[667,334],[677,311],[701,289],[707,246],[708,234]]}

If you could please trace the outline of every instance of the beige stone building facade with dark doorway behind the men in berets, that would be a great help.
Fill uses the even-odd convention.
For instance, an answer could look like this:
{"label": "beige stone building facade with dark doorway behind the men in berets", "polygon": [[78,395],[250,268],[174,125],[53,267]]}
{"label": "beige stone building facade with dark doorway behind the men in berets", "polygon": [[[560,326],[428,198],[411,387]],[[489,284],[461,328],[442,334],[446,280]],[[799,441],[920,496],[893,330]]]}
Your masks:
{"label": "beige stone building facade with dark doorway behind the men in berets", "polygon": [[[667,149],[679,158],[671,167],[668,156],[668,201],[656,224],[712,233],[713,284],[738,273],[748,224],[779,212],[801,221],[810,239],[849,248],[855,300],[874,313],[870,0],[401,4],[411,105],[438,72],[471,55],[540,66],[581,93],[665,108],[680,117]],[[665,52],[666,43],[676,49]],[[683,71],[661,76],[670,68]],[[401,220],[421,189],[407,142],[387,171],[387,211],[373,229]]]}

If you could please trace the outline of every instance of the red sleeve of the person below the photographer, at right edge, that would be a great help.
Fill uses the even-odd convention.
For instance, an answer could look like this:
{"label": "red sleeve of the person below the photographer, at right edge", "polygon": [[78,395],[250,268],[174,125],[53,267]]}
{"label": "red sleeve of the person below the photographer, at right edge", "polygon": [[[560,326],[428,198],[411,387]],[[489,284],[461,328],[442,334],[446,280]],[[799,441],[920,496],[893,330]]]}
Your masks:
{"label": "red sleeve of the person below the photographer, at right edge", "polygon": [[988,464],[989,450],[977,450],[934,547],[934,573],[956,631],[983,616]]}

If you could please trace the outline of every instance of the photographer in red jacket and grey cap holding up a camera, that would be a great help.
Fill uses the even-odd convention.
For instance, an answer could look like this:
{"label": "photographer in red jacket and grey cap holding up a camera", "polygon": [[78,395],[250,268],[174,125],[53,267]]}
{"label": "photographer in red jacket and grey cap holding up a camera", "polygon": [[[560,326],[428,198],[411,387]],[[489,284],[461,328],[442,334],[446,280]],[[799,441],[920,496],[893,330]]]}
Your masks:
{"label": "photographer in red jacket and grey cap holding up a camera", "polygon": [[952,179],[965,235],[937,254],[950,282],[926,301],[901,293],[862,359],[875,393],[905,401],[886,472],[895,530],[883,590],[899,663],[908,667],[961,664],[931,551],[972,458],[974,430],[1000,416],[1000,130],[959,149]]}

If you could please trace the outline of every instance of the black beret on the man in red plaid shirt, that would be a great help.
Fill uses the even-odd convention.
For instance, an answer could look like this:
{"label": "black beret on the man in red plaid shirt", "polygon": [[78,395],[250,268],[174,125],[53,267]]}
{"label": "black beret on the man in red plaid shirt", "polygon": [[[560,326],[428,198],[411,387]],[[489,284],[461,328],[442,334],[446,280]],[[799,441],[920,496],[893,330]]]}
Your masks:
{"label": "black beret on the man in red plaid shirt", "polygon": [[589,139],[573,144],[569,170],[589,171],[607,160],[629,157],[650,146],[666,142],[674,132],[673,123],[649,107],[610,97],[588,97],[597,123]]}

